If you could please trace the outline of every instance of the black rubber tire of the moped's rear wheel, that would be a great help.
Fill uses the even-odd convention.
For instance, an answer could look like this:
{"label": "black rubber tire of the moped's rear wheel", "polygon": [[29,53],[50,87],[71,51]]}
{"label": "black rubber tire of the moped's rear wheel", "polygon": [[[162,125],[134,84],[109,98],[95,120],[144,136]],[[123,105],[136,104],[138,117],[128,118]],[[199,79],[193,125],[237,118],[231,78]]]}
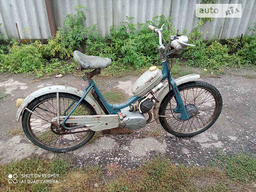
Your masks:
{"label": "black rubber tire of the moped's rear wheel", "polygon": [[[54,98],[56,99],[56,93],[49,93],[49,94],[40,96],[40,97],[36,98],[35,100],[33,100],[31,103],[29,103],[27,108],[31,111],[34,111],[35,109],[37,109],[36,108],[37,106],[40,106],[40,103],[44,103],[44,102],[46,102],[48,100],[51,100],[51,99],[53,100]],[[64,99],[67,99],[67,100],[73,100],[73,101],[76,101],[76,102],[81,99],[80,97],[78,97],[76,95],[73,95],[73,94],[70,94],[70,93],[59,93],[59,98],[61,98],[61,99],[64,98]],[[63,99],[63,103],[64,103],[64,99]],[[80,106],[82,106],[81,108],[83,108],[83,110],[84,110],[84,108],[86,109],[86,111],[87,111],[86,113],[88,113],[88,115],[97,115],[94,108],[87,101],[83,100],[78,107],[80,107]],[[54,106],[52,106],[52,107],[54,108]],[[64,106],[64,110],[65,110],[65,106]],[[53,109],[53,112],[54,112],[54,109]],[[66,152],[66,151],[71,151],[71,150],[77,149],[77,148],[83,146],[85,143],[87,143],[95,133],[92,130],[88,130],[88,132],[86,132],[87,136],[84,139],[82,138],[82,140],[80,142],[78,142],[79,141],[78,140],[76,145],[73,145],[73,146],[70,146],[70,147],[63,147],[63,148],[52,147],[50,145],[51,141],[48,145],[48,144],[44,143],[43,141],[39,140],[39,137],[36,137],[35,133],[31,129],[31,122],[30,122],[31,115],[33,115],[33,114],[31,114],[28,110],[26,110],[26,109],[24,110],[24,112],[22,114],[23,131],[25,132],[26,136],[28,137],[28,139],[32,143],[34,143],[36,146],[38,146],[40,148],[43,148],[45,150],[48,150],[48,151]],[[46,129],[48,129],[48,128],[46,128]],[[49,131],[49,130],[46,130],[46,131]],[[51,130],[51,128],[50,128],[49,132],[51,132],[52,135],[54,134],[54,136],[52,136],[54,138],[55,133]],[[71,135],[71,134],[69,134],[69,135]],[[62,136],[60,136],[60,137],[62,137]],[[72,135],[71,135],[71,137],[72,137]],[[74,133],[74,137],[75,137],[75,133]],[[56,138],[56,139],[58,140],[58,138]],[[52,138],[51,138],[51,140],[52,140]],[[73,137],[72,137],[72,140],[73,140]],[[64,144],[64,142],[63,142],[63,144]]]}

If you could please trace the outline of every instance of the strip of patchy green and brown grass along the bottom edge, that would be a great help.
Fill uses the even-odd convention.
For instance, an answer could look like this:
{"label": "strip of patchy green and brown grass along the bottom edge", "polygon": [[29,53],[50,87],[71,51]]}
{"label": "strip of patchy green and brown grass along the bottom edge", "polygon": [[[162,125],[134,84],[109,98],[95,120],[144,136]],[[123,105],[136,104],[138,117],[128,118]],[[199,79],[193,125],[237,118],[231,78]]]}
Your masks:
{"label": "strip of patchy green and brown grass along the bottom edge", "polygon": [[[132,170],[123,170],[120,166],[110,164],[106,167],[87,166],[71,168],[69,159],[51,161],[31,157],[11,164],[0,165],[1,191],[191,191],[191,192],[227,192],[255,191],[256,158],[247,155],[227,156],[219,154],[217,167],[175,166],[165,156]],[[221,163],[220,163],[221,162]],[[59,174],[57,184],[9,184],[8,175],[17,174]],[[31,178],[28,178],[31,180]],[[34,178],[35,179],[35,178]],[[45,178],[39,178],[39,180]],[[26,179],[27,180],[27,179]]]}

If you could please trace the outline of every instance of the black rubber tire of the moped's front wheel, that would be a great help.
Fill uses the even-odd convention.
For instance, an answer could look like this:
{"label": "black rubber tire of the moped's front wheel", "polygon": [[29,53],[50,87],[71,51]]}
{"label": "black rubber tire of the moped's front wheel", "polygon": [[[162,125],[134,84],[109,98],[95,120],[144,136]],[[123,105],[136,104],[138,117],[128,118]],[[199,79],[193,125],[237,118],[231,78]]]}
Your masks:
{"label": "black rubber tire of the moped's front wheel", "polygon": [[[174,92],[171,90],[171,93],[170,93],[170,97],[169,97],[169,94],[167,94],[165,97],[164,97],[164,99],[162,100],[162,102],[161,102],[161,105],[160,105],[160,108],[159,108],[159,112],[158,112],[158,115],[160,116],[159,117],[159,121],[160,121],[160,123],[161,123],[161,125],[163,126],[163,128],[167,131],[167,132],[169,132],[169,133],[171,133],[172,135],[175,135],[175,136],[178,136],[178,137],[191,137],[191,136],[195,136],[195,135],[197,135],[197,134],[200,134],[200,133],[202,133],[202,132],[204,132],[204,131],[206,131],[207,129],[209,129],[215,122],[216,122],[216,120],[218,119],[218,117],[220,116],[220,113],[221,113],[221,110],[222,110],[222,98],[221,98],[221,95],[220,95],[220,92],[213,86],[213,85],[211,85],[211,84],[209,84],[209,83],[205,83],[205,82],[201,82],[201,81],[193,81],[193,82],[188,82],[188,83],[185,83],[185,84],[181,84],[181,85],[179,85],[178,86],[178,89],[179,89],[179,91],[180,91],[180,94],[182,94],[182,92],[183,92],[183,94],[184,94],[184,92],[185,92],[185,94],[186,94],[186,90],[187,90],[187,95],[188,95],[188,91],[189,90],[193,90],[193,93],[195,92],[194,91],[194,89],[197,91],[197,90],[199,90],[199,89],[201,89],[201,90],[206,90],[206,91],[208,91],[209,93],[211,93],[212,94],[212,97],[213,97],[213,99],[214,99],[214,102],[215,102],[215,108],[214,108],[214,112],[213,112],[213,114],[214,114],[214,116],[212,115],[212,117],[211,117],[211,119],[209,119],[209,122],[207,123],[207,124],[205,124],[205,126],[204,127],[200,127],[201,129],[200,130],[198,130],[197,131],[197,129],[196,130],[194,130],[193,131],[193,129],[192,129],[192,131],[190,131],[189,132],[189,130],[188,130],[188,132],[181,132],[181,130],[182,130],[182,128],[180,128],[180,131],[178,131],[178,128],[179,128],[179,125],[181,126],[181,124],[182,124],[182,127],[183,127],[183,125],[186,123],[186,121],[188,121],[187,122],[187,125],[188,125],[188,123],[189,122],[191,122],[192,121],[192,123],[193,123],[193,121],[194,121],[194,118],[195,118],[195,121],[196,121],[196,119],[197,119],[197,121],[198,121],[198,124],[200,125],[200,122],[202,122],[202,123],[204,123],[204,121],[202,120],[202,118],[200,117],[200,119],[201,119],[201,121],[200,121],[200,119],[198,118],[198,116],[200,116],[199,114],[198,115],[196,115],[196,116],[194,116],[194,118],[193,118],[193,120],[191,120],[191,119],[188,119],[188,120],[186,120],[186,121],[177,121],[177,123],[176,124],[178,124],[177,126],[178,126],[178,128],[177,128],[177,130],[175,130],[174,128],[172,128],[172,126],[170,126],[168,123],[167,123],[167,117],[166,117],[166,115],[165,115],[165,112],[166,112],[166,108],[167,108],[167,106],[168,106],[168,104],[169,104],[169,102],[170,102],[170,100],[171,100],[171,102],[173,101],[173,98],[174,98]],[[200,90],[200,91],[201,91]],[[204,91],[202,92],[202,93],[204,93],[204,94],[206,94],[206,91],[205,91],[205,93],[204,93]],[[201,95],[202,95],[202,93],[201,93]],[[208,93],[208,94],[209,94]],[[184,94],[184,96],[182,96],[182,100],[183,100],[183,103],[184,103],[184,100],[186,101],[186,99],[187,99],[187,96],[186,96],[186,99],[185,99],[185,94]],[[198,94],[198,95],[200,95],[200,94]],[[201,97],[201,96],[200,96]],[[171,99],[170,99],[171,98]],[[183,99],[184,98],[184,99]],[[192,96],[191,96],[191,98],[192,98]],[[197,99],[197,97],[195,97],[194,96],[194,99],[195,99],[195,101],[192,101],[192,103],[193,102],[195,102],[195,105],[196,105],[196,99]],[[213,101],[209,101],[209,102],[213,102]],[[205,102],[206,103],[206,102]],[[185,105],[185,103],[184,103],[184,105]],[[171,104],[169,105],[170,106],[170,111],[172,112],[173,111],[173,108],[171,107]],[[202,104],[200,105],[200,107],[202,106]],[[212,106],[214,106],[214,105],[212,105]],[[212,107],[211,107],[212,108]],[[209,109],[210,110],[210,109]],[[211,110],[213,110],[213,109],[211,109]],[[200,110],[199,110],[200,111]],[[202,111],[202,113],[208,113],[208,112],[206,112],[207,110],[204,110],[204,111]],[[210,112],[209,112],[210,113]],[[175,114],[174,112],[172,112],[172,115],[173,114]],[[162,116],[165,116],[165,117],[161,117],[161,115]],[[208,114],[207,114],[208,115]],[[209,115],[208,115],[209,116]],[[169,117],[169,116],[168,116]],[[169,117],[169,119],[174,119],[174,120],[172,120],[172,121],[176,121],[177,120],[177,118],[171,118],[171,117]],[[204,118],[203,118],[204,119]],[[206,118],[205,118],[206,119]],[[182,123],[183,122],[183,123]],[[191,126],[191,123],[189,123],[190,124],[190,126]],[[193,123],[194,124],[194,123]],[[192,127],[193,127],[193,124],[192,124]],[[185,125],[184,125],[185,126]],[[195,124],[194,124],[194,126],[195,126]],[[195,126],[196,127],[196,126]],[[186,129],[186,127],[185,127],[185,129]],[[184,129],[184,131],[185,131],[185,129]],[[190,129],[190,128],[189,128]]]}

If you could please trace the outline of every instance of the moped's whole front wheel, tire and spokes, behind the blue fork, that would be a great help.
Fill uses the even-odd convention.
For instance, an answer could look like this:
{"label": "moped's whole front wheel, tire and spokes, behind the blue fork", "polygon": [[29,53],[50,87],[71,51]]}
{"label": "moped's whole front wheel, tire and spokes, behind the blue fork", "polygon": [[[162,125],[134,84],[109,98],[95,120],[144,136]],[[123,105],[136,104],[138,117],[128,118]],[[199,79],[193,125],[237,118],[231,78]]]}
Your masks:
{"label": "moped's whole front wheel, tire and spokes, behind the blue fork", "polygon": [[220,92],[213,85],[201,81],[181,84],[178,89],[187,111],[193,108],[197,110],[196,115],[186,121],[178,119],[179,113],[173,111],[177,103],[171,90],[162,100],[158,112],[163,128],[179,137],[194,136],[209,129],[221,113]]}

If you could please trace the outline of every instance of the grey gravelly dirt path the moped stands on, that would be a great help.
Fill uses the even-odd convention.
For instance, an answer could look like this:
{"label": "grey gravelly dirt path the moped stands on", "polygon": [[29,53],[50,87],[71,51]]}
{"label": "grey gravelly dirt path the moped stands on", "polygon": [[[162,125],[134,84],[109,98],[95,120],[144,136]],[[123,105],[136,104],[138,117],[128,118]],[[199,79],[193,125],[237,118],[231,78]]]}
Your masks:
{"label": "grey gravelly dirt path the moped stands on", "polygon": [[[249,71],[243,70],[243,73]],[[251,73],[251,72],[250,72]],[[244,76],[244,75],[243,75]],[[6,76],[0,74],[0,90],[8,95],[0,101],[0,162],[8,163],[15,159],[37,154],[52,158],[62,154],[52,153],[33,145],[24,134],[8,137],[7,130],[21,128],[16,122],[16,99],[25,98],[29,93],[49,85],[67,85],[82,89],[85,82],[81,77],[52,77],[30,83],[33,77],[23,75]],[[131,94],[130,87],[137,77],[119,79],[98,79],[99,87],[111,90],[114,87]],[[239,77],[231,73],[220,78],[204,78],[220,90],[223,98],[222,113],[217,122],[206,132],[191,138],[178,138],[164,131],[161,125],[148,124],[144,129],[132,134],[100,135],[90,144],[65,153],[73,157],[76,166],[110,162],[133,168],[152,159],[157,154],[166,154],[174,164],[205,166],[218,153],[253,153],[256,151],[256,78]],[[155,135],[155,136],[154,136]]]}

